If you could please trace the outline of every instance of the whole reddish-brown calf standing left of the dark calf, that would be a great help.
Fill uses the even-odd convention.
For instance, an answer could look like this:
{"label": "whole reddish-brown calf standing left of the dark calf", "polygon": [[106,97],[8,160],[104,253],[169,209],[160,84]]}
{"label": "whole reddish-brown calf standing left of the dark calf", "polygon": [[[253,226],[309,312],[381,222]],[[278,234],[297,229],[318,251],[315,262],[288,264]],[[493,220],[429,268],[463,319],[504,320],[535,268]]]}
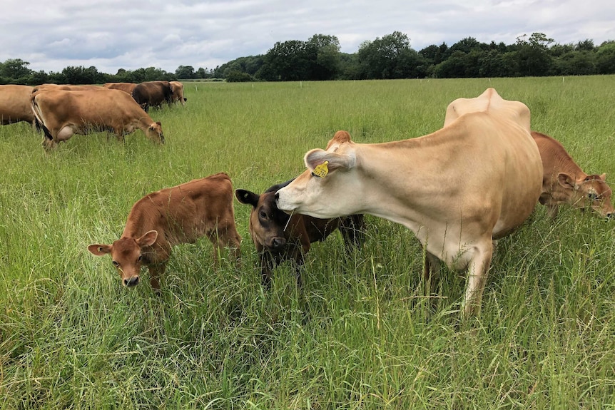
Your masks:
{"label": "whole reddish-brown calf standing left of the dark calf", "polygon": [[204,236],[214,245],[215,265],[225,246],[238,260],[241,237],[235,227],[233,185],[225,173],[146,195],[133,205],[120,239],[113,245],[89,245],[88,250],[97,256],[111,254],[124,286],[138,285],[143,265],[151,286],[160,289],[173,246]]}

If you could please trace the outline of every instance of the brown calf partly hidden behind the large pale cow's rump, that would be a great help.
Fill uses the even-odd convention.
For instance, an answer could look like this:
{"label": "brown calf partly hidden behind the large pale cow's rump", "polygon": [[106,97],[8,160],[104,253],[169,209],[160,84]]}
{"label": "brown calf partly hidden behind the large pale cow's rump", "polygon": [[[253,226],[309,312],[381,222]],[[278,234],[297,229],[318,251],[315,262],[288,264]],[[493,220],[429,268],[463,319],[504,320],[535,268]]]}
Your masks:
{"label": "brown calf partly hidden behind the large pale cow's rump", "polygon": [[532,137],[542,158],[542,194],[539,203],[547,206],[549,217],[557,216],[561,204],[579,209],[591,208],[601,217],[613,215],[612,192],[606,184],[606,174],[587,175],[559,141],[536,131],[532,131]]}

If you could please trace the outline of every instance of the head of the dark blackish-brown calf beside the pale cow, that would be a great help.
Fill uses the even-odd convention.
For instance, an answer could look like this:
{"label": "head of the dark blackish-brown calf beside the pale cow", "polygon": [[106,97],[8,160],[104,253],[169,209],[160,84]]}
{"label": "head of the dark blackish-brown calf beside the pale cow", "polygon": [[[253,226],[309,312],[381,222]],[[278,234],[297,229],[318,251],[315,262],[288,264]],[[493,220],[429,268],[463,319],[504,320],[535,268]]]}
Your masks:
{"label": "head of the dark blackish-brown calf beside the pale cow", "polygon": [[[248,190],[235,190],[240,203],[252,205],[250,235],[257,248],[282,252],[288,242],[290,216],[275,204],[275,191],[283,185],[258,195]],[[273,188],[273,187],[272,187]]]}

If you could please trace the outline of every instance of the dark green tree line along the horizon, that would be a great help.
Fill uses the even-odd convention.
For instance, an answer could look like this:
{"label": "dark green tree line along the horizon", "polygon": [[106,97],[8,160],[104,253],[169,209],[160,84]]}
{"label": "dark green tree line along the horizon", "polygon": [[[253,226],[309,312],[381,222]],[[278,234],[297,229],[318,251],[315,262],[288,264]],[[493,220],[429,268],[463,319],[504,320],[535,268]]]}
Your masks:
{"label": "dark green tree line along the horizon", "polygon": [[582,76],[615,73],[615,41],[599,46],[586,39],[559,44],[542,33],[517,37],[512,44],[481,43],[467,37],[447,46],[416,51],[410,39],[394,31],[361,43],[356,53],[342,53],[336,36],[315,34],[308,41],[278,41],[266,54],[236,58],[214,69],[178,66],[120,68],[116,74],[96,67],[68,66],[60,72],[32,71],[19,58],[0,63],[0,83],[99,84],[154,80],[217,78],[225,81],[323,81],[395,78],[472,78]]}

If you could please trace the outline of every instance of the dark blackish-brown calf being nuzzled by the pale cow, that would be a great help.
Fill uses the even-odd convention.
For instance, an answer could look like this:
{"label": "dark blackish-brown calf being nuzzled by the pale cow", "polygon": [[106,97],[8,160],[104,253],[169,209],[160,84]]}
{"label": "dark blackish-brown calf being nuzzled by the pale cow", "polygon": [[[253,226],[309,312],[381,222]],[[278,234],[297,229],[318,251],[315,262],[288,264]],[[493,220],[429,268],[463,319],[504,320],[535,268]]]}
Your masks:
{"label": "dark blackish-brown calf being nuzzled by the pale cow", "polygon": [[293,260],[297,280],[301,283],[299,267],[310,250],[310,244],[325,240],[339,229],[347,247],[363,242],[363,215],[350,215],[332,219],[317,219],[307,215],[287,215],[275,205],[275,192],[290,181],[273,185],[258,195],[248,190],[235,190],[240,203],[252,205],[250,236],[260,256],[260,273],[263,285],[271,282],[271,271],[284,260]]}

